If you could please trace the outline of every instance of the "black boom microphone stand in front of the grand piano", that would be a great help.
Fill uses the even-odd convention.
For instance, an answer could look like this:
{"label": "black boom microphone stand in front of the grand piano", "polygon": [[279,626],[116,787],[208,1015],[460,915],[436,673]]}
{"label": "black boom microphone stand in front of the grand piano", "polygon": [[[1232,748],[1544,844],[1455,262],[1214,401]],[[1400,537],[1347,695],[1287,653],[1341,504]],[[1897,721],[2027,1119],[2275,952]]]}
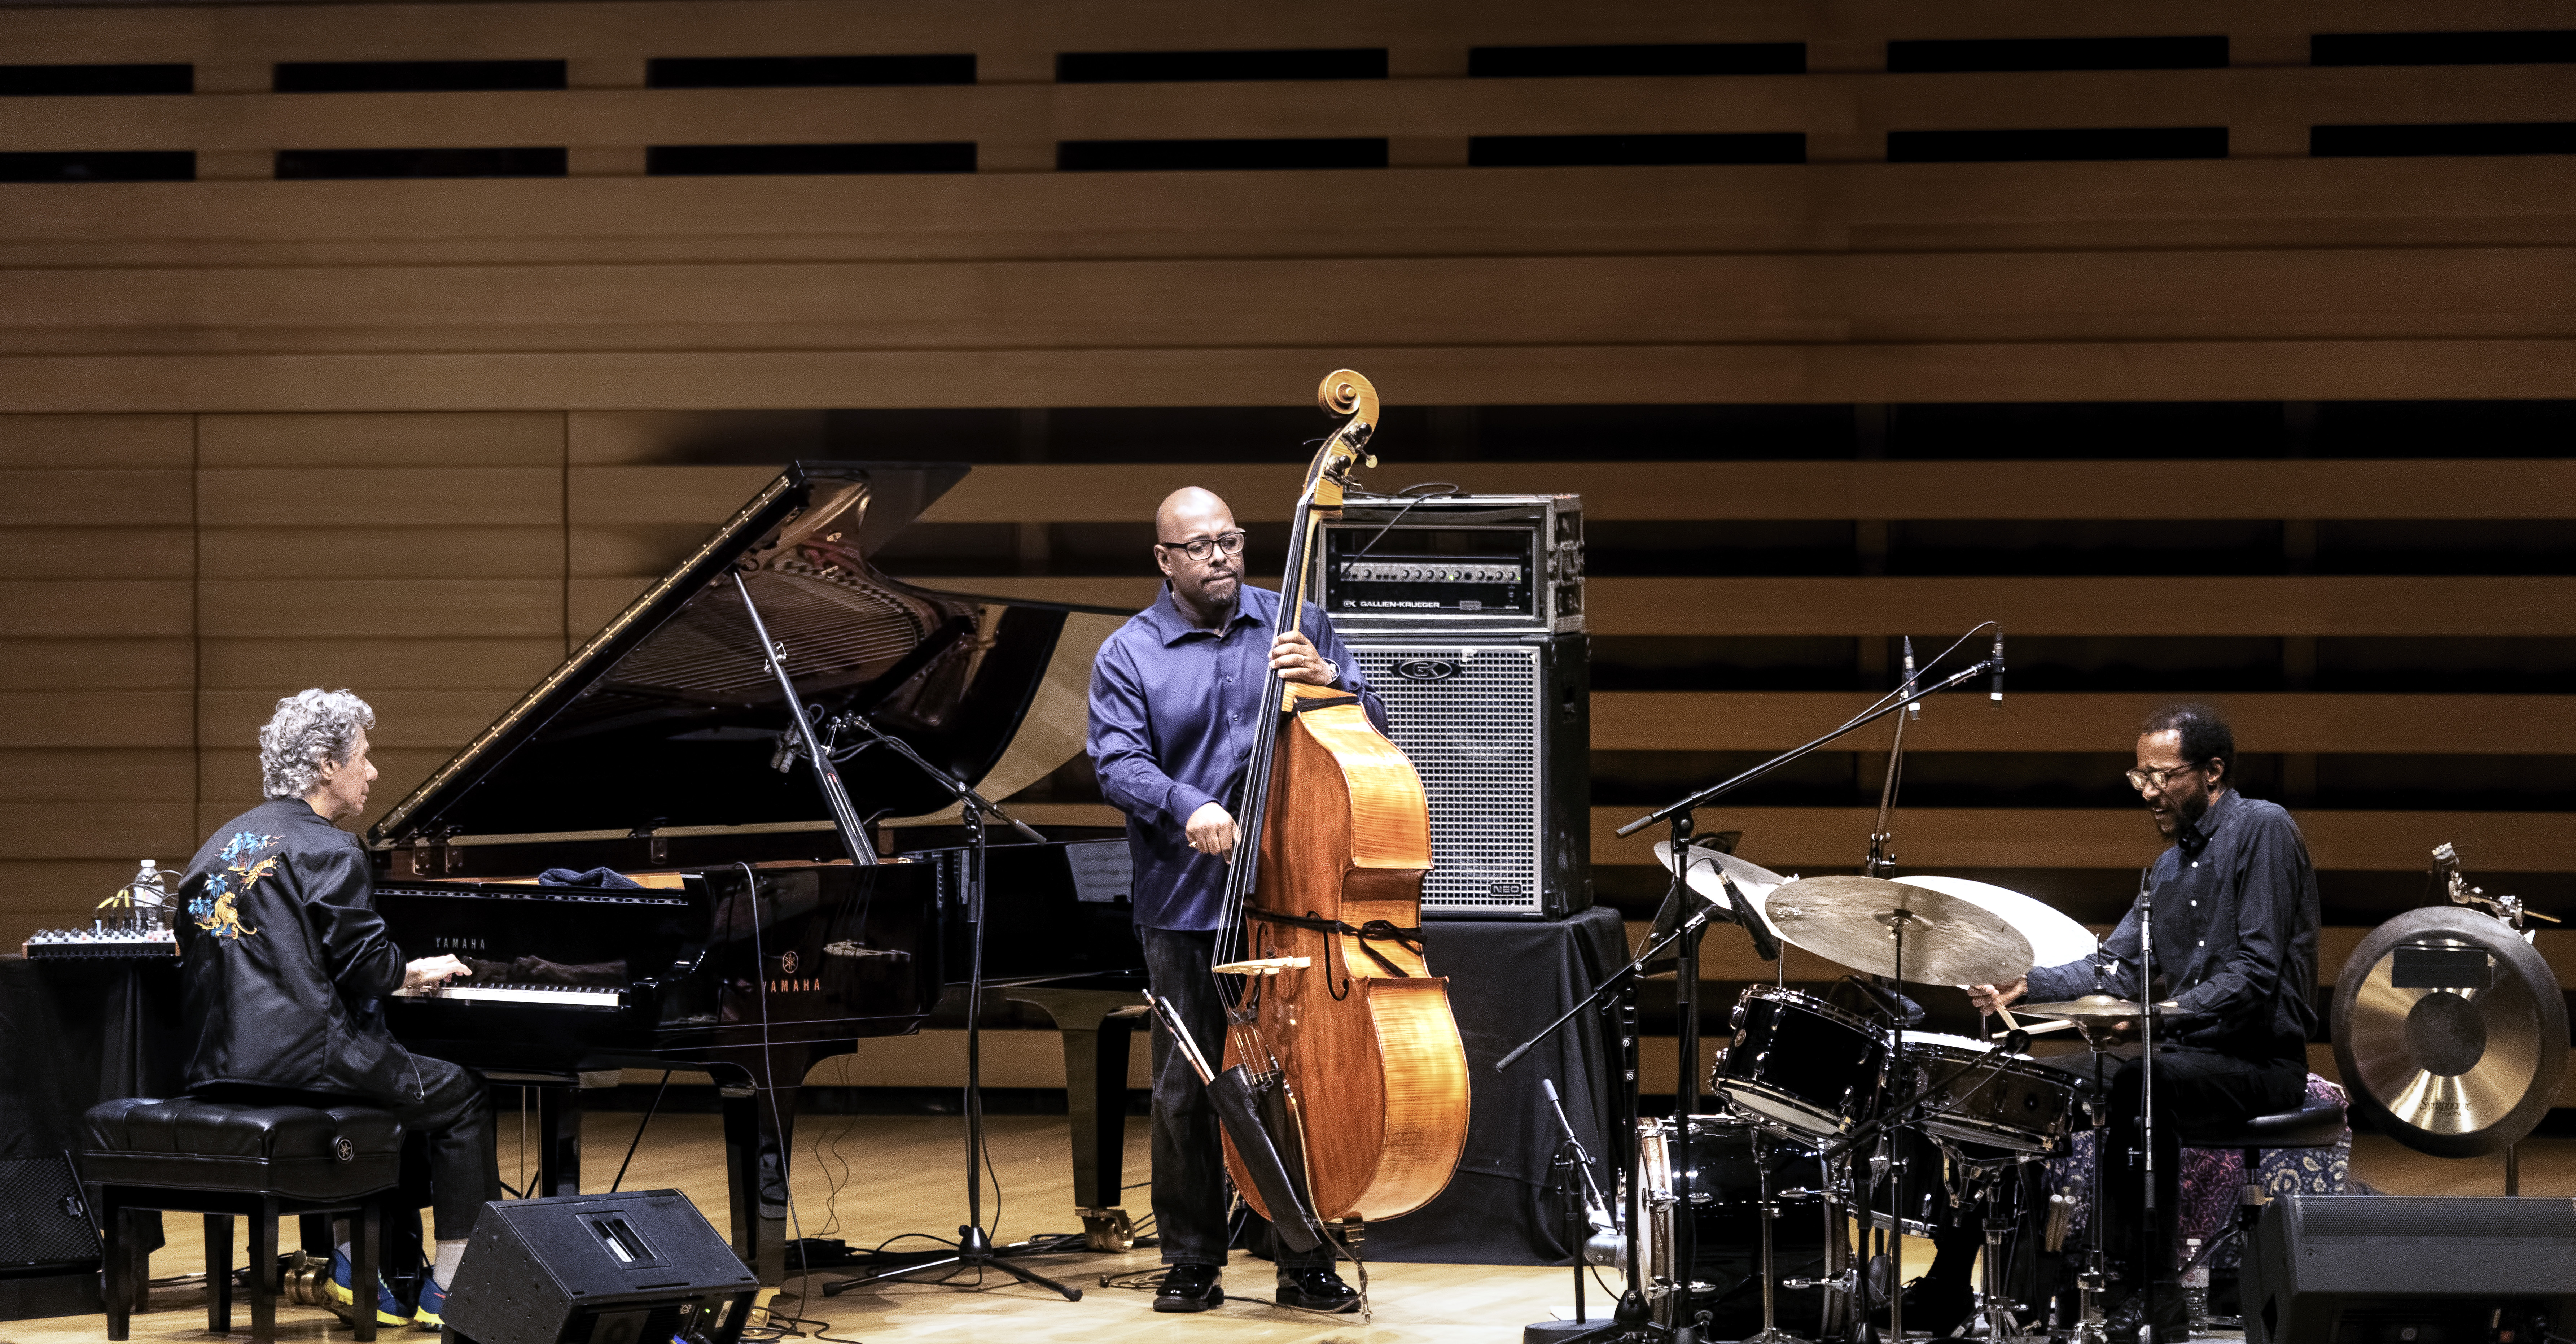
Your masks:
{"label": "black boom microphone stand in front of the grand piano", "polygon": [[[747,592],[744,592],[744,605],[750,605],[750,595]],[[927,760],[922,760],[920,752],[914,752],[909,742],[904,742],[904,739],[899,739],[894,734],[881,731],[876,723],[868,721],[866,713],[855,713],[853,711],[853,713],[835,716],[829,726],[835,731],[837,729],[858,729],[858,731],[868,734],[871,739],[881,742],[884,747],[891,747],[894,754],[899,754],[899,757],[909,760],[912,765],[917,765],[922,770],[922,775],[927,775],[940,788],[945,788],[948,793],[956,796],[958,808],[961,808],[961,821],[966,824],[966,881],[958,883],[958,886],[966,893],[966,924],[974,927],[974,937],[969,940],[969,950],[966,950],[966,1223],[958,1226],[958,1246],[956,1246],[953,1254],[940,1254],[940,1256],[933,1256],[933,1259],[917,1259],[917,1256],[881,1256],[881,1259],[871,1256],[871,1259],[863,1259],[860,1264],[891,1264],[891,1267],[876,1269],[871,1274],[858,1274],[858,1277],[850,1277],[850,1280],[827,1282],[822,1287],[822,1295],[824,1298],[837,1298],[837,1295],[842,1295],[842,1293],[848,1293],[853,1287],[866,1287],[871,1282],[907,1280],[912,1274],[927,1274],[933,1269],[956,1272],[956,1269],[969,1269],[971,1267],[971,1269],[999,1269],[999,1272],[1005,1272],[1005,1274],[1010,1274],[1010,1277],[1015,1277],[1020,1282],[1054,1290],[1066,1303],[1079,1303],[1082,1300],[1082,1290],[1079,1287],[1066,1287],[1066,1285],[1061,1285],[1056,1280],[1048,1280],[1046,1274],[1038,1274],[1033,1269],[1023,1269],[1023,1267],[1012,1264],[1010,1256],[1054,1254],[1054,1251],[1079,1249],[1084,1244],[1082,1233],[1038,1236],[1038,1238],[1020,1241],[1020,1244],[1012,1244],[1012,1246],[994,1246],[992,1236],[984,1231],[984,1161],[987,1161],[984,1159],[984,1050],[981,1050],[981,1045],[984,1045],[984,1027],[981,1027],[981,1017],[984,1017],[984,1012],[981,1012],[984,1009],[984,819],[989,816],[994,821],[1002,821],[1010,829],[1015,829],[1023,837],[1036,839],[1036,842],[1043,842],[1046,837],[1038,834],[1038,832],[1033,832],[1025,821],[1012,819],[1007,811],[1002,811],[989,798],[984,798],[981,793],[976,793],[966,780],[961,780],[961,778],[951,775],[948,770],[940,770],[938,765],[930,765]],[[811,742],[811,734],[809,734],[809,742]],[[824,765],[827,760],[829,757],[824,757],[822,749],[817,747],[814,765],[829,770]]]}

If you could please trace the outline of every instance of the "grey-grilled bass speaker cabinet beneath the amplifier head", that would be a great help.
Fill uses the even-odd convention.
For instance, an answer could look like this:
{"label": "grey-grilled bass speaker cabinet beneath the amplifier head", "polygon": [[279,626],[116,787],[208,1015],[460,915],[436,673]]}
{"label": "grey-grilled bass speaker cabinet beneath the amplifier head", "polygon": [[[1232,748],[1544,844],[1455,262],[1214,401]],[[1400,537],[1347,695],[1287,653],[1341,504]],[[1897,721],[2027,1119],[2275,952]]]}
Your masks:
{"label": "grey-grilled bass speaker cabinet beneath the amplifier head", "polygon": [[1432,806],[1425,919],[1592,906],[1592,677],[1582,633],[1345,636]]}

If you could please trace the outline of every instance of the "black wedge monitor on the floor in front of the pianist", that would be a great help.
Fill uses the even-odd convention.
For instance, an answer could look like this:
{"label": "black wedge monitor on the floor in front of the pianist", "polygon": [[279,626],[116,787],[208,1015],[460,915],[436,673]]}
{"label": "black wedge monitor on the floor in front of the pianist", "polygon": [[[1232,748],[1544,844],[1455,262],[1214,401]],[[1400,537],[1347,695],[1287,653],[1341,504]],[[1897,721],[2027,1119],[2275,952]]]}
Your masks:
{"label": "black wedge monitor on the floor in front of the pianist", "polygon": [[492,1200],[446,1321],[469,1344],[734,1344],[757,1293],[677,1190]]}

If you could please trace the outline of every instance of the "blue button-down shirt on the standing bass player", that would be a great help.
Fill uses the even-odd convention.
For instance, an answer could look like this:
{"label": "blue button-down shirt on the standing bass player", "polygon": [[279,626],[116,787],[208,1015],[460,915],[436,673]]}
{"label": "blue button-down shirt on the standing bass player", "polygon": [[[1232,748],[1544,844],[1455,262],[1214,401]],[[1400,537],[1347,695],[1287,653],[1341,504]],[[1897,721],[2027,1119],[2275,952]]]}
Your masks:
{"label": "blue button-down shirt on the standing bass player", "polygon": [[[1139,927],[1218,927],[1226,860],[1193,850],[1185,826],[1208,803],[1234,811],[1229,788],[1260,723],[1278,610],[1278,592],[1247,584],[1234,621],[1203,631],[1164,584],[1151,608],[1100,644],[1084,749],[1100,772],[1100,796],[1128,814]],[[1386,705],[1368,690],[1368,677],[1324,613],[1309,602],[1298,628],[1340,667],[1334,685],[1358,693],[1368,718],[1386,731]]]}

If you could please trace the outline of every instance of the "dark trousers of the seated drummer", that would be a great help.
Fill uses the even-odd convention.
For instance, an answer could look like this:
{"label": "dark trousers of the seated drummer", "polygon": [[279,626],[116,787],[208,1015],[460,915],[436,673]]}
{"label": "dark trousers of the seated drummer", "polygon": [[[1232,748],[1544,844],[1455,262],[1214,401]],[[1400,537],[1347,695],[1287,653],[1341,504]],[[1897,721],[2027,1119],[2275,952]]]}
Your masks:
{"label": "dark trousers of the seated drummer", "polygon": [[[2110,1251],[2136,1290],[2148,1280],[2172,1282],[2179,1272],[2182,1143],[2177,1125],[2231,1125],[2251,1115],[2295,1110],[2308,1097],[2308,1061],[2249,1061],[2192,1045],[2156,1048],[2156,1226],[2141,1223],[2146,1161],[2138,1143],[2141,1092],[2146,1069],[2128,1061],[2110,1079],[2110,1143],[2102,1151],[2102,1249]],[[2141,1238],[2146,1244],[2141,1246]]]}

